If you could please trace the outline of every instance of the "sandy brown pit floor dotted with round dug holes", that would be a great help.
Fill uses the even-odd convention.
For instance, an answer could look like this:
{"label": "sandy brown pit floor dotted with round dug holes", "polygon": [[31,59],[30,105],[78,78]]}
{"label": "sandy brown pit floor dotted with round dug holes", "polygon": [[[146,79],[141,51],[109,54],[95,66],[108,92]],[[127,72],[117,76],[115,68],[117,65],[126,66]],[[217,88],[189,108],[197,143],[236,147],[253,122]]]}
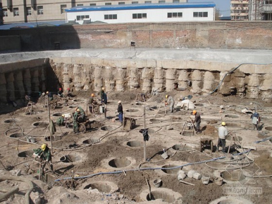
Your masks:
{"label": "sandy brown pit floor dotted with round dug holes", "polygon": [[[68,104],[51,110],[51,119],[55,121],[55,113],[72,113],[76,106],[85,109],[90,93],[76,93]],[[234,199],[233,203],[271,203],[271,177],[261,177],[272,174],[271,142],[269,140],[254,143],[255,141],[272,136],[272,107],[271,104],[245,100],[234,97],[221,98],[219,96],[193,96],[198,106],[195,108],[201,113],[202,133],[196,136],[181,135],[187,120],[193,118],[191,110],[179,109],[174,113],[165,114],[162,101],[166,93],[156,96],[148,95],[147,102],[136,103],[136,93],[108,93],[106,118],[104,114],[93,117],[88,113],[91,128],[85,133],[73,134],[72,130],[57,127],[56,141],[52,141],[54,174],[47,170],[47,181],[37,180],[39,163],[33,162],[33,149],[51,142],[45,137],[50,136],[47,125],[34,126],[35,122],[48,122],[47,108],[43,107],[42,99],[34,105],[32,115],[25,114],[25,108],[14,110],[5,105],[3,110],[12,112],[1,114],[1,171],[0,191],[5,192],[19,187],[19,192],[5,199],[6,204],[20,204],[24,200],[28,184],[21,181],[8,180],[8,176],[16,174],[17,178],[26,178],[34,183],[34,190],[30,196],[32,202],[38,203],[195,203],[208,204],[222,196]],[[188,92],[167,93],[174,97],[176,103],[181,96]],[[76,100],[76,101],[74,101]],[[122,100],[125,117],[136,121],[134,129],[123,129],[118,121],[115,110],[117,101]],[[144,161],[144,142],[140,130],[144,127],[144,106],[146,112],[145,125],[149,130],[149,141],[146,141],[146,158]],[[220,106],[223,106],[221,109]],[[242,109],[254,110],[257,108],[262,120],[260,130],[255,131],[251,124],[250,114],[244,114]],[[88,111],[89,112],[89,111]],[[59,114],[57,114],[59,115]],[[8,120],[13,119],[13,120]],[[8,121],[6,121],[8,120]],[[205,149],[200,151],[200,139],[206,138],[217,145],[217,128],[221,121],[225,121],[229,132],[238,136],[241,141],[235,143],[227,140],[226,146],[232,144],[230,153],[241,153],[247,148],[256,148],[247,155],[215,152]],[[23,136],[21,136],[23,131]],[[15,134],[15,135],[14,135]],[[13,137],[17,136],[17,137]],[[21,137],[19,137],[21,136]],[[26,142],[26,136],[33,136],[35,143]],[[131,147],[128,144],[134,144]],[[178,150],[175,150],[179,146]],[[163,149],[169,155],[162,157]],[[28,152],[25,152],[28,151]],[[64,161],[64,156],[69,159]],[[220,162],[202,162],[218,157]],[[199,164],[195,164],[199,162]],[[190,163],[181,168],[182,165]],[[193,164],[192,164],[193,163]],[[255,178],[232,180],[224,177],[222,186],[218,186],[214,179],[220,172],[228,171],[230,165],[239,172],[247,170],[253,172]],[[162,170],[161,168],[165,168]],[[205,185],[202,180],[185,178],[184,181],[192,185],[179,182],[177,171],[195,170],[201,175],[209,176],[210,182]],[[18,170],[20,172],[18,173]],[[70,179],[74,175],[75,179]],[[257,176],[259,176],[257,178]],[[161,187],[154,187],[153,181],[160,179]],[[151,187],[152,200],[149,198]],[[225,187],[261,187],[260,195],[256,194],[225,194]],[[229,202],[228,200],[228,202]],[[218,203],[218,202],[217,202]]]}

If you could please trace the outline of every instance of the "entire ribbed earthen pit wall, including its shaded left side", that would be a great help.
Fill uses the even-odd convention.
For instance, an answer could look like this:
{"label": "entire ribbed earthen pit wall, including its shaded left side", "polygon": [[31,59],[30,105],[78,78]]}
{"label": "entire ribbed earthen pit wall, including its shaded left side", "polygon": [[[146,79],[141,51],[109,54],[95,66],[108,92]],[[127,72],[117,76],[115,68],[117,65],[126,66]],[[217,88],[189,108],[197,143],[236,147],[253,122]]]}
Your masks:
{"label": "entire ribbed earthen pit wall, including its shaded left side", "polygon": [[[194,94],[213,91],[235,63],[191,60],[133,60],[100,58],[41,58],[0,64],[0,101],[20,101],[25,94],[58,85],[73,91],[171,91],[174,84]],[[239,97],[272,98],[272,66],[242,65],[225,77],[220,93]]]}

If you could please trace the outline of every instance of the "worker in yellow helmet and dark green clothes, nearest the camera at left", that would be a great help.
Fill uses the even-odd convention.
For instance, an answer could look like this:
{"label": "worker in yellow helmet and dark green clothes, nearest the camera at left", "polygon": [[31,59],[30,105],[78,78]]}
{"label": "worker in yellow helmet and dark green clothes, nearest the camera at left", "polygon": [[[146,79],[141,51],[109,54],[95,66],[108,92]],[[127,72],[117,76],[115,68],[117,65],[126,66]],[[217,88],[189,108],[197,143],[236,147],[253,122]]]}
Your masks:
{"label": "worker in yellow helmet and dark green clothes, nearest the camera at left", "polygon": [[[52,156],[49,147],[46,144],[42,144],[41,148],[34,149],[34,156],[38,157],[41,159],[41,163],[44,163],[42,165],[42,170],[44,172],[44,168],[46,163],[50,165],[51,170],[53,170],[53,165],[52,165]],[[46,162],[46,163],[45,163]]]}

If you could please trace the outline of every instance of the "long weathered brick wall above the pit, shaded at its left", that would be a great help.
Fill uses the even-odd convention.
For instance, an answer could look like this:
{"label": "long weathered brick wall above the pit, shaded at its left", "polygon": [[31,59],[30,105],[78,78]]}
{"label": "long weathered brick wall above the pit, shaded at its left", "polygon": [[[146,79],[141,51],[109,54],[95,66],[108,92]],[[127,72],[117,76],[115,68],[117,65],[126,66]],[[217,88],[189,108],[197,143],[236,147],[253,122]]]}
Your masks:
{"label": "long weathered brick wall above the pit, shaded at its left", "polygon": [[259,21],[90,24],[0,30],[0,35],[19,36],[22,51],[59,49],[56,43],[60,49],[126,48],[131,41],[137,48],[272,49],[272,22]]}

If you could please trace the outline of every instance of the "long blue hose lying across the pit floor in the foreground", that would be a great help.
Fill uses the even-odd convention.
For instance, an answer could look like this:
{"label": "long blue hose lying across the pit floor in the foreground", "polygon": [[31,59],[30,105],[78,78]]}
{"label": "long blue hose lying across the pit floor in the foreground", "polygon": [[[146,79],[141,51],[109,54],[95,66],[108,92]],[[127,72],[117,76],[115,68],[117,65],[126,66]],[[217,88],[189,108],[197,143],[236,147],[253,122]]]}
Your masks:
{"label": "long blue hose lying across the pit floor in the foreground", "polygon": [[[251,150],[247,150],[245,152],[236,153],[236,154],[232,154],[232,155],[236,156],[236,155],[240,155],[240,154],[243,154],[243,153],[248,153],[250,151]],[[218,160],[218,159],[223,159],[225,157],[226,156],[221,156],[221,157],[217,157],[217,158],[213,158],[213,159],[209,159],[209,160],[205,160],[205,161],[194,162],[194,163],[187,163],[187,164],[184,164],[184,165],[181,165],[181,166],[171,167],[171,168],[159,168],[159,167],[158,168],[151,168],[151,167],[149,167],[149,168],[133,169],[133,170],[125,170],[125,171],[136,171],[136,170],[173,170],[173,169],[178,169],[178,168],[186,167],[186,166],[189,166],[189,165],[202,164],[202,163],[205,163],[205,162],[215,161],[215,160]],[[85,179],[85,178],[89,178],[89,177],[96,176],[96,175],[116,174],[116,173],[123,173],[123,171],[119,170],[119,171],[111,171],[111,172],[100,172],[100,173],[90,174],[90,175],[87,175],[87,176],[74,177],[74,179]],[[67,179],[72,179],[72,177],[67,177],[67,178],[62,178],[62,179],[56,179],[55,182],[56,181],[60,181],[60,180],[67,180]]]}

